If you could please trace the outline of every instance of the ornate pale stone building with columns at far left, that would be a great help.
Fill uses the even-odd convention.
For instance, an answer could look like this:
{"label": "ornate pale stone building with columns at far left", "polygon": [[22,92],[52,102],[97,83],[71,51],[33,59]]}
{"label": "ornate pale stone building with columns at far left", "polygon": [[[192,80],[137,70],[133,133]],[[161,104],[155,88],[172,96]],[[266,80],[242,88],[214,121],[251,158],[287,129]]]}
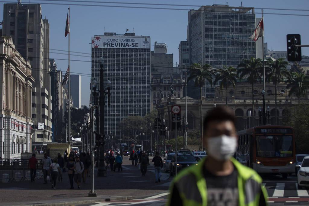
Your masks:
{"label": "ornate pale stone building with columns at far left", "polygon": [[0,37],[0,156],[19,158],[32,152],[32,68],[11,38]]}

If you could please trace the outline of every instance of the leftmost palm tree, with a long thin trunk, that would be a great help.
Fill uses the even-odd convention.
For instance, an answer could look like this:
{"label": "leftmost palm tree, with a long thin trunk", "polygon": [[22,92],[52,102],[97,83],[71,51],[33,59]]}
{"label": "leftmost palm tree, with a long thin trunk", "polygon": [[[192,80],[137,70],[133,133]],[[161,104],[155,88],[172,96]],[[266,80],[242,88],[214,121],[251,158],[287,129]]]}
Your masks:
{"label": "leftmost palm tree, with a long thin trunk", "polygon": [[201,88],[201,149],[203,149],[203,111],[202,111],[202,96],[203,87],[205,86],[206,80],[213,84],[213,72],[210,70],[210,65],[201,65],[194,63],[190,66],[189,78],[187,81],[194,80],[194,85]]}

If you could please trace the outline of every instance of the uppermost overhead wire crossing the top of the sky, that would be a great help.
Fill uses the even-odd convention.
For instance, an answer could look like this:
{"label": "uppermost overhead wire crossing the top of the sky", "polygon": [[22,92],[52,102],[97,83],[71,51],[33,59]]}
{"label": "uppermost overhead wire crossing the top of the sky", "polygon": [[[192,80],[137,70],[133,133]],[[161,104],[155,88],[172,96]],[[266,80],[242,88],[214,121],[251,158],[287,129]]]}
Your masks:
{"label": "uppermost overhead wire crossing the top of the sky", "polygon": [[[155,5],[155,6],[193,6],[201,7],[200,5],[186,5],[186,4],[158,4],[158,3],[136,3],[136,2],[105,2],[105,1],[78,1],[78,0],[33,0],[33,1],[53,1],[53,2],[83,2],[83,3],[107,3],[107,4],[131,4],[131,5]],[[237,7],[237,6],[236,6]],[[250,8],[250,6],[249,6]],[[309,11],[308,9],[283,9],[283,8],[258,8],[265,10],[283,10],[283,11]]]}

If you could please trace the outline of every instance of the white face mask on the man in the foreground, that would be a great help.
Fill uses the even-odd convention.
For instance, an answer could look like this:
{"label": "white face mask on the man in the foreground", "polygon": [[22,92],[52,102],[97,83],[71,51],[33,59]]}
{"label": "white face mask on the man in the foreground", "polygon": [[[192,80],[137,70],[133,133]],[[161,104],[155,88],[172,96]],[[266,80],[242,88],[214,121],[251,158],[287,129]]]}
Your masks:
{"label": "white face mask on the man in the foreground", "polygon": [[210,137],[207,139],[207,153],[217,160],[228,160],[235,153],[237,138],[226,135]]}

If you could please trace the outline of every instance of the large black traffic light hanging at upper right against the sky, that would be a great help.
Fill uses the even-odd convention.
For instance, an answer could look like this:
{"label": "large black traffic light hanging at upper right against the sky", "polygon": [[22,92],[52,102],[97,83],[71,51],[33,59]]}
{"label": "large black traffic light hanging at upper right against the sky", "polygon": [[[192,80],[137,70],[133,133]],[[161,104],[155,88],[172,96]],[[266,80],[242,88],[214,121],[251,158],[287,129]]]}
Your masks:
{"label": "large black traffic light hanging at upper right against the sky", "polygon": [[296,47],[301,45],[299,34],[288,34],[286,35],[288,61],[301,61],[302,60],[302,49]]}

